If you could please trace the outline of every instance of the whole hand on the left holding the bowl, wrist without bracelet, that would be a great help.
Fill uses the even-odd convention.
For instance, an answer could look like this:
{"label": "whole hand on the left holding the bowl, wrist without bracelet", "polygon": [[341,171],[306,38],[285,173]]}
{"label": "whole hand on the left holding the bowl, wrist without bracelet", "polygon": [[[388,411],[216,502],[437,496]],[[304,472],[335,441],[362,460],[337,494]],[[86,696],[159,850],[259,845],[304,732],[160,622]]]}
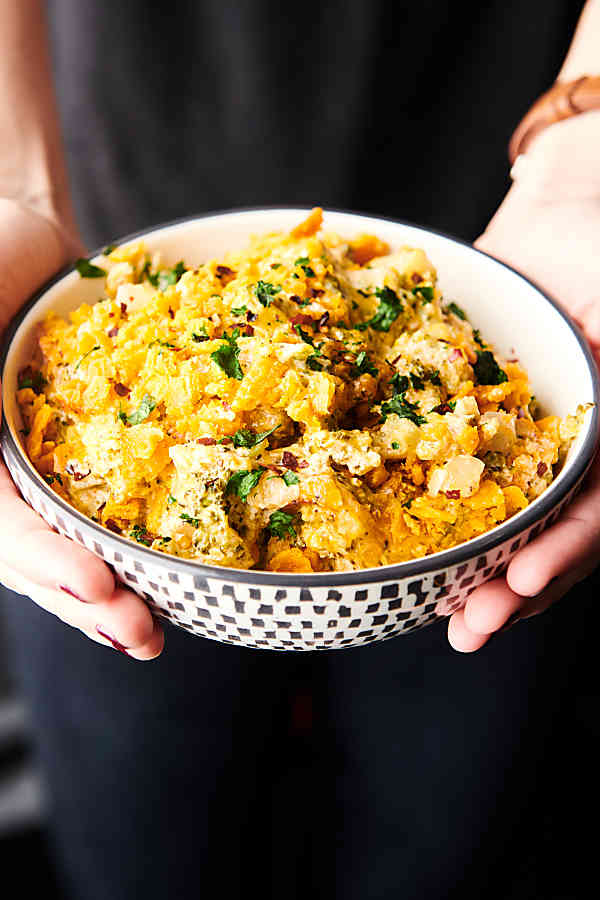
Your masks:
{"label": "whole hand on the left holding the bowl, wrist without bracelet", "polygon": [[[13,200],[0,199],[0,329],[70,258],[77,236]],[[153,659],[163,633],[143,600],[120,585],[89,550],[56,534],[21,499],[0,464],[0,581],[134,659]]]}

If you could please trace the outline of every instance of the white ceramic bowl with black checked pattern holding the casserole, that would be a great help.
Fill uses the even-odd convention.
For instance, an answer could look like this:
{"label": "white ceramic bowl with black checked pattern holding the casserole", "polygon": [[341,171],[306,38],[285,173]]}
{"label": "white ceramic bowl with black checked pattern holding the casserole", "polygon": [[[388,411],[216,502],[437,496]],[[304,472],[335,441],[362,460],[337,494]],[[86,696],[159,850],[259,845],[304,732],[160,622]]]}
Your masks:
{"label": "white ceramic bowl with black checked pattern holding the casserole", "polygon": [[[262,209],[194,217],[143,235],[167,263],[200,263],[244,245],[251,234],[293,227],[306,210]],[[23,449],[15,399],[17,373],[28,362],[36,324],[53,309],[65,314],[98,299],[97,283],[72,269],[32,298],[12,323],[2,355],[4,459],[23,497],[60,533],[102,557],[146,599],[153,612],[187,631],[227,643],[275,650],[329,650],[405,634],[446,616],[469,593],[506,568],[512,556],[552,524],[573,498],[592,462],[598,436],[598,376],[573,323],[535,285],[471,246],[386,219],[328,212],[327,229],[372,232],[392,247],[423,247],[447,300],[456,300],[497,348],[518,356],[546,410],[559,415],[594,406],[562,471],[534,503],[481,537],[424,559],[348,573],[312,575],[206,566],[149,550],[96,525],[63,502]]]}

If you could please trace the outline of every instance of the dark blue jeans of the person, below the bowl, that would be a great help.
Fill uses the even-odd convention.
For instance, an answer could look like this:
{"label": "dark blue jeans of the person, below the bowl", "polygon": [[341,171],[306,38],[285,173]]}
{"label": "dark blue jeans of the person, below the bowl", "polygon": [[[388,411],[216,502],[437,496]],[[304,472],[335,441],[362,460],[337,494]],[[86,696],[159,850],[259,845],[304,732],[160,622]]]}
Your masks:
{"label": "dark blue jeans of the person, below the bowl", "polygon": [[472,656],[443,626],[308,655],[169,627],[144,664],[5,595],[65,896],[585,896],[597,587]]}

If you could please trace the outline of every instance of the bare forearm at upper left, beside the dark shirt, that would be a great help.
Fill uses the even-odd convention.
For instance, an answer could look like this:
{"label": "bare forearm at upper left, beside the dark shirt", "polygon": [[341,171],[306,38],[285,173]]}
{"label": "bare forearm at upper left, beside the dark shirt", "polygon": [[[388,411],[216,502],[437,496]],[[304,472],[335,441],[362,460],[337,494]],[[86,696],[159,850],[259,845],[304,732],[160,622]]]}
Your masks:
{"label": "bare forearm at upper left, beside the dark shirt", "polygon": [[42,0],[0,3],[0,197],[71,230],[44,6]]}

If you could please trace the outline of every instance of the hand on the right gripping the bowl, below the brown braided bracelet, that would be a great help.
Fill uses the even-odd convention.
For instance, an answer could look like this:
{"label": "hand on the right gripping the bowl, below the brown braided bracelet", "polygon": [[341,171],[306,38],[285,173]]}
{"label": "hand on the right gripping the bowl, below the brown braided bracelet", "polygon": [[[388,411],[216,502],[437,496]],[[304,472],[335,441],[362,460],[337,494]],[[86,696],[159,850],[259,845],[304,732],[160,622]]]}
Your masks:
{"label": "hand on the right gripping the bowl, below the brown braided bracelet", "polygon": [[[555,297],[600,361],[600,113],[543,132],[476,246]],[[600,553],[600,457],[559,521],[520,550],[506,575],[477,588],[451,616],[455,650],[478,650],[509,620],[543,612],[596,568]]]}

